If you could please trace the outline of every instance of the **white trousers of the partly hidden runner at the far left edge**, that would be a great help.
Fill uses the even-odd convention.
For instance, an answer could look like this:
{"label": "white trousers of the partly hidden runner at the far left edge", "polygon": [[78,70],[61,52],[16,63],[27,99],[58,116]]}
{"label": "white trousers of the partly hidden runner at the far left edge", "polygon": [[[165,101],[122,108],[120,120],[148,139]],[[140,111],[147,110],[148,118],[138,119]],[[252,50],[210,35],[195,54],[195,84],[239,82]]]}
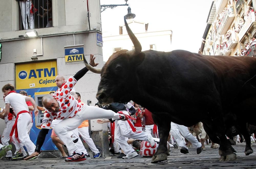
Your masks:
{"label": "white trousers of the partly hidden runner at the far left edge", "polygon": [[[2,144],[4,146],[8,146],[9,145],[9,142],[10,141],[10,133],[12,131],[12,128],[13,128],[13,125],[15,123],[15,120],[9,120],[7,123],[6,123],[6,127],[4,129],[4,132],[3,132],[3,136],[1,138],[1,141],[2,141]],[[12,151],[7,151],[6,153],[6,157],[12,157]]]}

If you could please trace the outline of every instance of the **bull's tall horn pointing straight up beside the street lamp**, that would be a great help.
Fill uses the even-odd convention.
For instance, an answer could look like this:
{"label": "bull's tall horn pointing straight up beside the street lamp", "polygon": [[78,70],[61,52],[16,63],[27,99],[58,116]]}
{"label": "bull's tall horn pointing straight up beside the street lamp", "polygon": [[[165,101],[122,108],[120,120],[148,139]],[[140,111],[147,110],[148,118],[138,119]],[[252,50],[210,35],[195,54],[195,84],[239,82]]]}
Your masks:
{"label": "bull's tall horn pointing straight up beside the street lamp", "polygon": [[141,52],[141,44],[138,41],[138,39],[136,38],[136,36],[132,33],[130,27],[128,26],[128,24],[126,22],[125,17],[124,17],[124,24],[125,24],[126,31],[127,31],[128,35],[129,35],[129,37],[132,40],[132,43],[134,45],[134,49],[129,50],[126,53],[129,56],[135,56],[135,55],[137,55],[137,54],[139,54]]}

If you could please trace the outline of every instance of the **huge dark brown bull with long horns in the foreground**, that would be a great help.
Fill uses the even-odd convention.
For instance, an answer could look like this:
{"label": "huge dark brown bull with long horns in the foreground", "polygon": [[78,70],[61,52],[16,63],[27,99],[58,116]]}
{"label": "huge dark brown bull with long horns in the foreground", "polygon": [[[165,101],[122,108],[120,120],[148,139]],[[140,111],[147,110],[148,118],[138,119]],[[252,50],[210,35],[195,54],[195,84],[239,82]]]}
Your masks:
{"label": "huge dark brown bull with long horns in the foreground", "polygon": [[245,154],[251,154],[247,125],[256,125],[256,58],[141,51],[124,22],[134,49],[113,53],[102,69],[84,61],[90,71],[101,74],[97,93],[101,104],[133,100],[152,112],[160,142],[151,162],[167,160],[170,122],[185,126],[202,122],[210,139],[220,145],[220,161],[236,160],[226,137],[235,128],[246,140]]}

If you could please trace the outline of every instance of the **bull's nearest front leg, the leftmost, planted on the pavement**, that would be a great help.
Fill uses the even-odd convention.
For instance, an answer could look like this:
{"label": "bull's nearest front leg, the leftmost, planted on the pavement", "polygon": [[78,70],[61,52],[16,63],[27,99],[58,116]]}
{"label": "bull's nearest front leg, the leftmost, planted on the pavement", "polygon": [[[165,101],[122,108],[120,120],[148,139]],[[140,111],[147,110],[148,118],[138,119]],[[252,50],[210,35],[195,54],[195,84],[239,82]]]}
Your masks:
{"label": "bull's nearest front leg, the leftmost, planted on the pavement", "polygon": [[151,163],[165,161],[167,160],[167,155],[169,155],[169,152],[167,150],[167,138],[170,132],[170,121],[163,120],[163,118],[160,118],[160,117],[163,117],[162,113],[156,113],[156,114],[157,116],[155,116],[154,113],[152,113],[152,117],[158,127],[160,142],[159,142],[157,151],[152,157]]}

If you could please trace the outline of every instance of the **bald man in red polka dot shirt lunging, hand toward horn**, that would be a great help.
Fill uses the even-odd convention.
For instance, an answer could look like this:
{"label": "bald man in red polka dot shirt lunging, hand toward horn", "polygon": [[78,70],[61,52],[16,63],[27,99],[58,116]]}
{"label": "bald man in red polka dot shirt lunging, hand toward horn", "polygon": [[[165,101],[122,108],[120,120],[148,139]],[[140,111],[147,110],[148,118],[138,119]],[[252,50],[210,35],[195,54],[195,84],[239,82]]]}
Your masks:
{"label": "bald man in red polka dot shirt lunging, hand toward horn", "polygon": [[[85,58],[84,58],[85,59]],[[95,57],[91,54],[90,64],[96,66],[94,62]],[[54,130],[58,137],[67,146],[69,154],[71,154],[65,161],[83,161],[86,160],[81,148],[77,147],[67,134],[84,121],[99,118],[113,118],[115,120],[127,120],[127,117],[113,112],[112,110],[104,110],[99,107],[88,106],[80,104],[71,94],[73,86],[84,75],[88,69],[84,67],[78,71],[73,77],[70,76],[65,85],[59,88],[52,96],[45,95],[42,98],[42,104],[46,111],[41,125],[41,131],[37,137],[35,152],[25,160],[35,159],[39,156],[40,148],[44,143],[45,136],[48,133],[51,122],[54,119],[62,119],[61,122],[56,124]]]}

